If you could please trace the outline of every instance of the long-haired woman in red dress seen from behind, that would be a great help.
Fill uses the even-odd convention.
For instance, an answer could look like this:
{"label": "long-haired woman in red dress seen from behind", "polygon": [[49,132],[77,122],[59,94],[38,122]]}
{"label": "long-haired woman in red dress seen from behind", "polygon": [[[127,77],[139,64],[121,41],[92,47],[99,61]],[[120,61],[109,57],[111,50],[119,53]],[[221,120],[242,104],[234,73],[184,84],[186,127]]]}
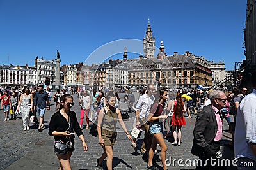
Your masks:
{"label": "long-haired woman in red dress seen from behind", "polygon": [[[186,106],[184,102],[182,101],[180,92],[177,92],[176,100],[174,101],[174,105],[172,108],[173,116],[172,116],[172,134],[174,138],[174,142],[172,145],[180,146],[180,140],[181,140],[181,127],[182,125],[186,125],[186,121],[183,115],[183,112],[186,111]],[[178,130],[178,143],[177,143],[177,132],[176,127]]]}

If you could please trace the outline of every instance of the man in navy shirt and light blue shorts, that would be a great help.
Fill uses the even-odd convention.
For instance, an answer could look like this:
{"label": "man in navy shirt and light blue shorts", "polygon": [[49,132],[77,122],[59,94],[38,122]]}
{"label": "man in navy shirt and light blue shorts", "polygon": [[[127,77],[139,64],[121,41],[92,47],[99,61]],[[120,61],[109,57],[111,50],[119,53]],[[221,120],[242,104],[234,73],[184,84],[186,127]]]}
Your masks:
{"label": "man in navy shirt and light blue shorts", "polygon": [[47,92],[44,91],[44,85],[38,86],[38,92],[36,92],[36,95],[35,95],[34,106],[35,106],[35,109],[37,110],[37,113],[40,117],[38,131],[42,132],[42,129],[44,128],[45,110],[46,110],[46,108],[48,111],[50,110],[49,97],[48,97]]}

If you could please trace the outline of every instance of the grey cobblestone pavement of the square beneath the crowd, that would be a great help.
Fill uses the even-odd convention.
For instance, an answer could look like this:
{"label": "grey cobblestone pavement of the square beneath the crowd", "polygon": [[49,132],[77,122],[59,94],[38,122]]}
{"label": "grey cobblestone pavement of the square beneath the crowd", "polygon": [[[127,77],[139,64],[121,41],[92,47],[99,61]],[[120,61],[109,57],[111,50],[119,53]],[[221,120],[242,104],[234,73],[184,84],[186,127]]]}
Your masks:
{"label": "grey cobblestone pavement of the square beneath the crowd", "polygon": [[[80,118],[80,110],[77,95],[74,95],[76,104],[73,110],[77,113],[77,119]],[[49,120],[53,113],[55,113],[55,106],[51,106],[51,111],[45,113],[45,129],[38,132],[33,124],[30,124],[29,131],[23,131],[22,118],[18,115],[17,120],[9,120],[4,122],[3,110],[0,110],[0,169],[58,169],[60,166],[58,159],[53,152],[54,139],[48,135]],[[125,120],[127,129],[131,131],[134,122],[134,112],[129,113],[131,120]],[[225,121],[225,120],[224,120]],[[189,159],[193,162],[198,159],[192,155],[191,146],[193,142],[193,127],[195,125],[194,118],[186,118],[187,125],[182,127],[182,143],[181,146],[172,146],[172,139],[166,140],[168,151],[166,152],[166,159]],[[225,128],[227,129],[227,124]],[[90,122],[92,124],[92,122]],[[97,169],[96,159],[100,157],[103,150],[98,144],[98,139],[88,134],[90,129],[83,129],[86,143],[88,145],[88,152],[84,153],[79,138],[75,139],[75,151],[72,153],[71,166],[72,169]],[[225,136],[222,143],[230,142],[230,134],[224,133]],[[113,148],[113,168],[114,169],[147,169],[147,162],[142,159],[140,155],[140,147],[143,139],[136,141],[138,150],[134,150],[131,142],[127,140],[124,132],[118,133],[116,144]],[[157,147],[160,149],[160,147]],[[230,148],[221,147],[223,158],[232,159],[233,153]],[[160,152],[160,150],[159,150]],[[160,153],[156,154],[156,158]],[[184,164],[184,162],[183,162]],[[106,169],[106,160],[103,162],[103,167]],[[162,169],[161,162],[157,162],[157,167]],[[195,166],[179,166],[177,161],[175,165],[170,165],[169,169],[195,169]],[[228,169],[236,169],[228,167]]]}

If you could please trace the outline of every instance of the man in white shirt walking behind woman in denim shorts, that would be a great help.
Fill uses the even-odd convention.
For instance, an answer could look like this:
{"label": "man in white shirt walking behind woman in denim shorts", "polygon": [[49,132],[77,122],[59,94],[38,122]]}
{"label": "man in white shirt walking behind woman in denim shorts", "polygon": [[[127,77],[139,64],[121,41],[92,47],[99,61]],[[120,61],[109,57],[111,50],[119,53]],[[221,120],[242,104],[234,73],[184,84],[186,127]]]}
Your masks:
{"label": "man in white shirt walking behind woman in denim shorts", "polygon": [[148,94],[143,94],[142,96],[140,96],[135,109],[136,127],[140,127],[141,129],[145,130],[145,136],[141,146],[142,154],[144,154],[145,152],[148,153],[150,149],[150,145],[152,143],[152,136],[149,133],[149,125],[147,124],[147,122],[148,122],[148,115],[149,115],[151,105],[155,101],[155,97],[154,97],[155,92],[156,92],[156,89],[154,85],[151,85],[151,84],[148,85]]}

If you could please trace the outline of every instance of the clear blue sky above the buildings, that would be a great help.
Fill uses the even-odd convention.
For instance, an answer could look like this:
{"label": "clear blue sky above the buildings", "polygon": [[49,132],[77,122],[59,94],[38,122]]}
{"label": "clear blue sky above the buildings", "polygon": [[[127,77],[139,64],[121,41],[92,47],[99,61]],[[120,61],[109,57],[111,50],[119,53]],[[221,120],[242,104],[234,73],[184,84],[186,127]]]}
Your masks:
{"label": "clear blue sky above the buildings", "polygon": [[148,18],[156,47],[163,40],[167,55],[189,51],[224,60],[227,70],[245,59],[246,0],[0,0],[0,65],[33,66],[36,56],[56,59],[56,50],[61,66],[90,57],[88,64],[99,63],[116,53],[121,58],[124,46],[128,57],[136,57],[142,44],[124,41],[92,54],[119,39],[143,40]]}

